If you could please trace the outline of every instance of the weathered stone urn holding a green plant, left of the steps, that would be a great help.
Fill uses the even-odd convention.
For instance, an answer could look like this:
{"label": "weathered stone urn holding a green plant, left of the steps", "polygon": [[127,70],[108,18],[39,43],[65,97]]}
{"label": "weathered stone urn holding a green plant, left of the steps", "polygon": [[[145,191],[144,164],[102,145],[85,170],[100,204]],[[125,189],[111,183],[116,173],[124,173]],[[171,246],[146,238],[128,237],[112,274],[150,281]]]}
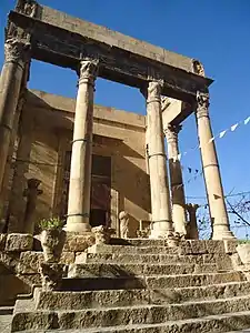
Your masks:
{"label": "weathered stone urn holding a green plant, left of the steps", "polygon": [[42,219],[39,222],[41,229],[41,246],[44,261],[59,262],[66,240],[66,232],[62,230],[64,222],[59,218]]}

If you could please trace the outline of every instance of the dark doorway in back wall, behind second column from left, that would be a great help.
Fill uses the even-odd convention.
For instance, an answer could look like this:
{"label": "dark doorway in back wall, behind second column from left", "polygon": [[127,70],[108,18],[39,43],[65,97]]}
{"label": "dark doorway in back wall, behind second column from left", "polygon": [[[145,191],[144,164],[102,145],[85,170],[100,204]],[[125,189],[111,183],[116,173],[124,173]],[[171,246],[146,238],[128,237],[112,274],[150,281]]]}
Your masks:
{"label": "dark doorway in back wall, behind second column from left", "polygon": [[[66,152],[61,219],[67,215],[71,152]],[[92,155],[90,225],[109,225],[111,205],[111,158]]]}

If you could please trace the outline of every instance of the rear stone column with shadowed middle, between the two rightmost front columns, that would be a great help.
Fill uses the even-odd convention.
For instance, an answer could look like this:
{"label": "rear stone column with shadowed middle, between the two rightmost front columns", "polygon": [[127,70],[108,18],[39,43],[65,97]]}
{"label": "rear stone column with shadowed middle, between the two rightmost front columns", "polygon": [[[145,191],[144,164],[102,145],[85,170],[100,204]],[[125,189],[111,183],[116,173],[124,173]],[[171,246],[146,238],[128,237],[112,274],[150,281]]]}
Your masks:
{"label": "rear stone column with shadowed middle, between the two rightmost front columns", "polygon": [[170,185],[172,194],[172,221],[176,232],[179,232],[180,234],[187,234],[184,186],[182,181],[181,164],[178,160],[178,133],[180,130],[181,125],[169,124],[164,130],[164,134],[167,138],[169,155]]}

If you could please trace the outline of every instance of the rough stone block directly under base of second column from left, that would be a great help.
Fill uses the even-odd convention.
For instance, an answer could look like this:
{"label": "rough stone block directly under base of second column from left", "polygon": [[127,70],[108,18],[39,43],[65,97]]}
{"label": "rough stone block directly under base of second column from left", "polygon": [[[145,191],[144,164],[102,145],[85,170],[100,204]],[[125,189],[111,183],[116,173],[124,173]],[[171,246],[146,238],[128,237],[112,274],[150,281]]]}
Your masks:
{"label": "rough stone block directly under base of second column from left", "polygon": [[67,252],[83,252],[89,246],[94,244],[94,234],[88,232],[86,234],[73,234],[68,232],[63,251]]}

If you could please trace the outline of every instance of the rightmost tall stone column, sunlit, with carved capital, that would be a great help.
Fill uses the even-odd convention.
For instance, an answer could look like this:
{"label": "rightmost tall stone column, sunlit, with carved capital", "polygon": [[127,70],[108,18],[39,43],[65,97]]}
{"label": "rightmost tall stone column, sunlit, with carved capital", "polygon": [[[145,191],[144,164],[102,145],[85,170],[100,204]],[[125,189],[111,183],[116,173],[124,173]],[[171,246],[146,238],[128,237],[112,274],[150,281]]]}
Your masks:
{"label": "rightmost tall stone column, sunlit, with carved capital", "polygon": [[229,219],[208,109],[209,94],[198,92],[196,117],[204,182],[212,221],[212,239],[222,240],[233,238],[233,234],[229,228]]}

